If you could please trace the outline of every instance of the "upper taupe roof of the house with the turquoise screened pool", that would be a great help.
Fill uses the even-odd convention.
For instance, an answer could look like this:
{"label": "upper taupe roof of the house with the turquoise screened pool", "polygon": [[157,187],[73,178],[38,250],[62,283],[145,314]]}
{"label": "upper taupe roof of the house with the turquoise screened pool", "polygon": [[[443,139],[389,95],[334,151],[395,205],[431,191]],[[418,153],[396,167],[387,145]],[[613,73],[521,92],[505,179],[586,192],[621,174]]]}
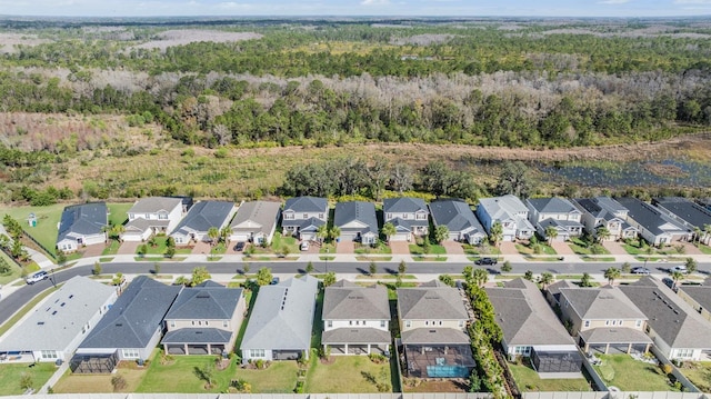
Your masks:
{"label": "upper taupe roof of the house with the turquoise screened pool", "polygon": [[398,288],[398,309],[401,320],[467,320],[463,298],[455,288]]}

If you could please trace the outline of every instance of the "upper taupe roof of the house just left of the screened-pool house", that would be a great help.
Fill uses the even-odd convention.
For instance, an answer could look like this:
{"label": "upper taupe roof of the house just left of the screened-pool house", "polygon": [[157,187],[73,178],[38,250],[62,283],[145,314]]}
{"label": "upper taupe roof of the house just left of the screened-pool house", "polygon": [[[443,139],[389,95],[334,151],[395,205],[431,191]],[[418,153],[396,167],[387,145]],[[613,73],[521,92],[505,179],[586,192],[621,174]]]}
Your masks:
{"label": "upper taupe roof of the house just left of the screened-pool house", "polygon": [[388,290],[380,285],[368,287],[342,281],[326,288],[323,320],[390,320]]}

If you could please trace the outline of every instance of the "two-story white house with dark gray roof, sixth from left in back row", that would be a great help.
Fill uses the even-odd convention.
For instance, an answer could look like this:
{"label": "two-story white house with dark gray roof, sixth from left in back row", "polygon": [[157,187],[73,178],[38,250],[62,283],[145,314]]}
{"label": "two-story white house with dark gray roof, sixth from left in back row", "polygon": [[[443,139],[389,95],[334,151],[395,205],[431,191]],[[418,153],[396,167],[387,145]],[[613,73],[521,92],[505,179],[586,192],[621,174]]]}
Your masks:
{"label": "two-story white house with dark gray roof, sixth from left in back row", "polygon": [[371,202],[338,202],[333,213],[333,226],[341,229],[342,241],[359,241],[363,245],[378,242],[378,218]]}

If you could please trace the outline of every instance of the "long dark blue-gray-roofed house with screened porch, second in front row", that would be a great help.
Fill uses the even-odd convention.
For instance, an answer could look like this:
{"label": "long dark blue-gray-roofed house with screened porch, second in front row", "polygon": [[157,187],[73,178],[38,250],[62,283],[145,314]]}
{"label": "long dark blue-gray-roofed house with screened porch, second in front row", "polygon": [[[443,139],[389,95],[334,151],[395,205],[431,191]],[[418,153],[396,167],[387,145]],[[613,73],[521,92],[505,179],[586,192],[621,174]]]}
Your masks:
{"label": "long dark blue-gray-roofed house with screened porch, second in front row", "polygon": [[79,345],[73,372],[111,372],[120,360],[148,359],[163,333],[163,317],[182,286],[136,278]]}

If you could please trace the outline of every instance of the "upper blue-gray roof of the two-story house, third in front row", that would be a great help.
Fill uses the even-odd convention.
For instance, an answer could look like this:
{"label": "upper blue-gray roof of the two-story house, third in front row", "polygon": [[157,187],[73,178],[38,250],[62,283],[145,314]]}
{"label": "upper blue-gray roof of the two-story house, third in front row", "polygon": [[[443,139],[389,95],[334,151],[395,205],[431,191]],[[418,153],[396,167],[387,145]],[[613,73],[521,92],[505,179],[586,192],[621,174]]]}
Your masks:
{"label": "upper blue-gray roof of the two-story house, third in front row", "polygon": [[239,288],[192,287],[183,289],[166,315],[166,320],[229,320],[242,298]]}

